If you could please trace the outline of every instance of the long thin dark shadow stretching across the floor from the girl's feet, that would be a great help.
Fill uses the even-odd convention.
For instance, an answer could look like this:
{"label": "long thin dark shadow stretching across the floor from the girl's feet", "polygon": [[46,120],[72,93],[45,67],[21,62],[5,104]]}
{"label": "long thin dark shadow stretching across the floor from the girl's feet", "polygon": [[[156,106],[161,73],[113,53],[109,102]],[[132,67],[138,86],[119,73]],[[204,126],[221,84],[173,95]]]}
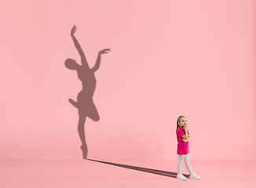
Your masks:
{"label": "long thin dark shadow stretching across the floor from the girl's feet", "polygon": [[[168,177],[175,178],[175,179],[177,178],[177,172],[168,172],[168,171],[156,170],[156,169],[152,169],[152,168],[143,168],[143,167],[126,165],[126,164],[117,164],[117,163],[111,163],[111,162],[106,162],[106,161],[97,161],[97,160],[93,160],[93,159],[87,159],[87,160],[100,162],[100,163],[104,163],[104,164],[110,164],[110,165],[114,165],[114,166],[118,166],[118,167],[122,167],[122,168],[129,168],[129,169],[137,170],[137,171],[141,171],[141,172],[148,172],[148,173],[152,173],[155,175],[163,175],[163,176],[168,176]],[[187,175],[187,174],[183,174],[183,175],[186,178],[189,178],[189,175]]]}

